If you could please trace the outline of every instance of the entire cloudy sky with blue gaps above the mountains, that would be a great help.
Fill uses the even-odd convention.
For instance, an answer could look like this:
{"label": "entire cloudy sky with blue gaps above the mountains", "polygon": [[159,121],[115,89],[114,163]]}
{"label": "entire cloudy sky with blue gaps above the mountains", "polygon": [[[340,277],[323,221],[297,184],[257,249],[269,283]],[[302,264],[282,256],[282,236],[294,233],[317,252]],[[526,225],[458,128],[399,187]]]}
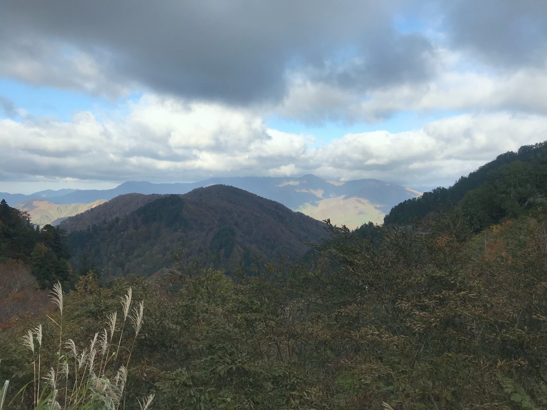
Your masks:
{"label": "entire cloudy sky with blue gaps above the mountains", "polygon": [[0,191],[449,186],[547,140],[539,0],[4,0]]}

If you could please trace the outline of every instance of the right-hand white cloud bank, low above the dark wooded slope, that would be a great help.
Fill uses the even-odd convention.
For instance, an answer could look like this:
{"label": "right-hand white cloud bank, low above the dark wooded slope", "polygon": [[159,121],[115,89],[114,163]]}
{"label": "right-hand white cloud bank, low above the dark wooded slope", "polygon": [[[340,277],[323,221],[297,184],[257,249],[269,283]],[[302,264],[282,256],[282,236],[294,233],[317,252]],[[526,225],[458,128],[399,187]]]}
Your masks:
{"label": "right-hand white cloud bank, low above the dark wooded slope", "polygon": [[421,130],[346,134],[307,151],[318,174],[376,178],[406,185],[449,185],[506,151],[547,140],[547,117],[458,115]]}

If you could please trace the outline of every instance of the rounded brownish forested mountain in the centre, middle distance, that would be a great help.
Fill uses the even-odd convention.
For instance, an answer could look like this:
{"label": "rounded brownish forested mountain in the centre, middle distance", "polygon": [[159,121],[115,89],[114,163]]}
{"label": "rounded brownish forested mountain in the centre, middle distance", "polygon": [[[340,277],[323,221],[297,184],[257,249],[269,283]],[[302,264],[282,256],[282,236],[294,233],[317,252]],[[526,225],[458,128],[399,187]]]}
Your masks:
{"label": "rounded brownish forested mountain in the centre, middle distance", "polygon": [[226,185],[184,195],[122,195],[60,224],[69,231],[73,265],[85,259],[106,274],[143,276],[170,266],[169,255],[181,249],[189,260],[214,255],[227,268],[250,266],[257,257],[301,256],[309,250],[302,242],[319,241],[323,226]]}

